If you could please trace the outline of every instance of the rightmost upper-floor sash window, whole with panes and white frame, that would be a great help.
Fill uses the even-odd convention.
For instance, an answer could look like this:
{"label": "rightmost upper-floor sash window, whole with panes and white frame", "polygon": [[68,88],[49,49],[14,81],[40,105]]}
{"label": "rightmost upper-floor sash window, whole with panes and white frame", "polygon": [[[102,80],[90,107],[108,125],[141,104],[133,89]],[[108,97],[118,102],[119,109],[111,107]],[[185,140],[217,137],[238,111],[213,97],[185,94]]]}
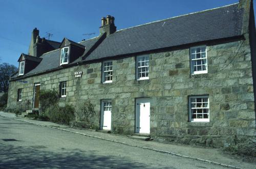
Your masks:
{"label": "rightmost upper-floor sash window, whole with panes and white frame", "polygon": [[206,46],[190,48],[190,71],[191,74],[207,73]]}

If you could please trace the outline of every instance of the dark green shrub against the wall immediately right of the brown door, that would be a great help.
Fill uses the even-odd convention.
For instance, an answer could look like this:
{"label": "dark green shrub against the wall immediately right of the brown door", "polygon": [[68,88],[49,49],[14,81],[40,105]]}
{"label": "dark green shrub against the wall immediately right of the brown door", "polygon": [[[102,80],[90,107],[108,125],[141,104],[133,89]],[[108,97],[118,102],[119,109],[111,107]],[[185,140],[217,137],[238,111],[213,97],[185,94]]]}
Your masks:
{"label": "dark green shrub against the wall immediately right of the brown door", "polygon": [[47,107],[54,105],[58,102],[59,96],[58,92],[55,90],[41,90],[39,93],[40,107],[42,116],[44,116]]}

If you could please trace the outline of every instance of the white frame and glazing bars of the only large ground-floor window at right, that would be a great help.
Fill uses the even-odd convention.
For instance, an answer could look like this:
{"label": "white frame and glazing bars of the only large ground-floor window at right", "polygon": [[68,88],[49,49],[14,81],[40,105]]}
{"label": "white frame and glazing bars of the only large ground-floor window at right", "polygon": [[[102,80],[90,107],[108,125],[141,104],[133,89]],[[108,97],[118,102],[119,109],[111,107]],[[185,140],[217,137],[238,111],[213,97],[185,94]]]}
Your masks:
{"label": "white frame and glazing bars of the only large ground-floor window at right", "polygon": [[[202,98],[202,101],[197,102],[198,98]],[[207,98],[207,102],[204,102],[203,98]],[[191,101],[192,99],[195,99],[196,101],[192,102]],[[197,103],[198,103],[198,105],[201,104],[201,107],[196,107]],[[207,107],[203,107],[203,103],[207,103]],[[195,105],[192,106],[192,104],[195,104]],[[202,114],[202,118],[192,118],[192,112],[194,109],[196,109],[196,116],[198,116],[199,114]],[[202,113],[197,112],[199,109],[202,109]],[[203,109],[207,109],[208,112],[204,113]],[[205,114],[208,115],[208,118],[203,117]],[[209,122],[209,121],[210,121],[209,96],[207,96],[207,95],[205,95],[205,96],[189,96],[189,122]]]}

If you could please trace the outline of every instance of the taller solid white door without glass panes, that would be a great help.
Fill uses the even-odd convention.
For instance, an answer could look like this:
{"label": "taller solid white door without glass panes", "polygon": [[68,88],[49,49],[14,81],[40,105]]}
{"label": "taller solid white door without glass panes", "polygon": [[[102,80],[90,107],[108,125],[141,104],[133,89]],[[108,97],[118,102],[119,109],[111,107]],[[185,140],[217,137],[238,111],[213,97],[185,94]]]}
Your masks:
{"label": "taller solid white door without glass panes", "polygon": [[136,133],[150,134],[150,99],[136,100]]}

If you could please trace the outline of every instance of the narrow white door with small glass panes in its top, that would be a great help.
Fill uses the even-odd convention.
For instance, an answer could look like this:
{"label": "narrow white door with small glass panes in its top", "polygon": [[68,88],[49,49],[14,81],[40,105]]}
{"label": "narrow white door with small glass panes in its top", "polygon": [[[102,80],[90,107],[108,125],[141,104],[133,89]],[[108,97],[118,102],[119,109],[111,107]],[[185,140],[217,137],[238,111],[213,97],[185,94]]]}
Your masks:
{"label": "narrow white door with small glass panes in its top", "polygon": [[102,130],[111,130],[111,101],[102,101],[101,110],[101,128]]}

